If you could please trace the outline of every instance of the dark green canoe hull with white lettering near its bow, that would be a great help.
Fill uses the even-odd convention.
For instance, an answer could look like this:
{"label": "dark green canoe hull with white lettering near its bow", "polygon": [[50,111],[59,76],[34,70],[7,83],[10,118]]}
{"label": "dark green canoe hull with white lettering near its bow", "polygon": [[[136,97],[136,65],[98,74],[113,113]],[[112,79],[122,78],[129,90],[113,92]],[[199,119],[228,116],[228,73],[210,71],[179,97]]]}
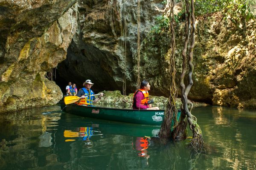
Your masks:
{"label": "dark green canoe hull with white lettering near its bow", "polygon": [[[79,116],[105,119],[117,122],[127,122],[142,125],[161,125],[164,110],[132,110],[117,108],[102,108],[80,106],[75,104],[61,105],[63,111]],[[178,119],[180,110],[178,111]]]}

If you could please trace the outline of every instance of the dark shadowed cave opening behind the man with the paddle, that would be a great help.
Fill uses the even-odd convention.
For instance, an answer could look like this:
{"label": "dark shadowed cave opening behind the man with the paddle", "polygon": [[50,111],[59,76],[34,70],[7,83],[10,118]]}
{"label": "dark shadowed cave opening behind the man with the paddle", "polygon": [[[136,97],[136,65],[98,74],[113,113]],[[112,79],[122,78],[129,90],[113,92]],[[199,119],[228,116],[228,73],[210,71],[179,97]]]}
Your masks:
{"label": "dark shadowed cave opening behind the man with the paddle", "polygon": [[[94,83],[92,87],[94,93],[122,91],[122,79],[120,78],[120,81],[117,82],[113,79],[112,64],[117,61],[113,59],[112,62],[109,62],[110,58],[113,58],[110,54],[103,53],[91,45],[83,43],[77,48],[72,41],[67,49],[67,58],[58,63],[56,68],[47,72],[47,78],[54,81],[64,95],[68,82],[75,83],[79,90],[83,88],[83,82],[87,79]],[[115,71],[121,72],[119,69],[116,68]]]}

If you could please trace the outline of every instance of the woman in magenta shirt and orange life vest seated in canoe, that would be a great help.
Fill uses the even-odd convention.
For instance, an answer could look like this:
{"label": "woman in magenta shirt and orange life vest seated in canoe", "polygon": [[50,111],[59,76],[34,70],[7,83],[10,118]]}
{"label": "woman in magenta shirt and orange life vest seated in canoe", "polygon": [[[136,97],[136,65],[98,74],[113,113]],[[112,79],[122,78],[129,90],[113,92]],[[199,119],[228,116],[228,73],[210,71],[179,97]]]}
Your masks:
{"label": "woman in magenta shirt and orange life vest seated in canoe", "polygon": [[149,100],[148,91],[150,85],[147,81],[143,80],[140,83],[140,89],[138,89],[133,96],[133,109],[147,109],[147,110],[159,110],[158,107],[152,107],[153,100]]}

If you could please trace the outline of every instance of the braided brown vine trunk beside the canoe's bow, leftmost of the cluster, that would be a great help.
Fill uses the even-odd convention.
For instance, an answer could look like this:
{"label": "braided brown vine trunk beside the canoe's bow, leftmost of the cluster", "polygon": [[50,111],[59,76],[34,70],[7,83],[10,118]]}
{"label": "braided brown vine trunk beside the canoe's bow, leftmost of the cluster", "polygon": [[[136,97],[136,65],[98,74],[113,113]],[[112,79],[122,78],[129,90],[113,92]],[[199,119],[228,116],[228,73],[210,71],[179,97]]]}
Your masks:
{"label": "braided brown vine trunk beside the canoe's bow, leftmost of the cluster", "polygon": [[[171,32],[171,54],[170,54],[170,64],[169,64],[169,75],[170,75],[170,96],[168,99],[167,107],[165,110],[165,119],[163,120],[163,123],[161,125],[161,129],[159,132],[159,136],[161,139],[167,139],[171,135],[171,127],[176,126],[178,124],[177,119],[177,108],[175,105],[176,98],[177,98],[177,89],[175,85],[175,75],[176,75],[176,69],[175,69],[175,31],[174,31],[174,6],[175,2],[174,0],[171,0],[169,2],[169,8],[170,8],[170,14],[169,14],[169,32]],[[166,142],[166,140],[163,140],[163,142]]]}

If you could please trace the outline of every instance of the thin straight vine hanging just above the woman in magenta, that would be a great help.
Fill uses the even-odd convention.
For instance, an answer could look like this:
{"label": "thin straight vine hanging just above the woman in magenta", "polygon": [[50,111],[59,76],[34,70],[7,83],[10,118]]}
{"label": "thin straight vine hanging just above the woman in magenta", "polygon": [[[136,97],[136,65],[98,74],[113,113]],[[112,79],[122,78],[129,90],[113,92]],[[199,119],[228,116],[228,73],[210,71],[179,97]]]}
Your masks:
{"label": "thin straight vine hanging just above the woman in magenta", "polygon": [[137,86],[140,88],[140,0],[137,3]]}

